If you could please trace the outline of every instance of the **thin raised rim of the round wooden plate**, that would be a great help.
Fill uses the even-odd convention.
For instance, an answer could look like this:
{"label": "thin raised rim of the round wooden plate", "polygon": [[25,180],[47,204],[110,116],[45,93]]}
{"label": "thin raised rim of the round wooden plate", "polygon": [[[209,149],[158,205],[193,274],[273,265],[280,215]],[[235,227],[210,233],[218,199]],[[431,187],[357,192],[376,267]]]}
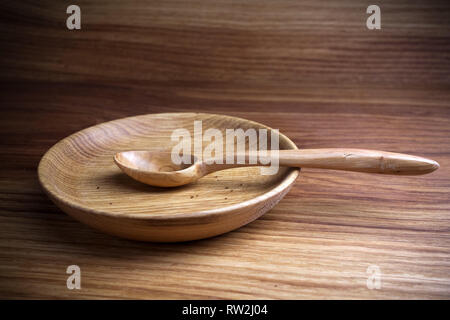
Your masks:
{"label": "thin raised rim of the round wooden plate", "polygon": [[[290,172],[287,172],[287,176],[281,181],[280,184],[278,184],[275,188],[270,189],[267,192],[264,192],[261,195],[258,195],[254,198],[251,198],[249,200],[245,200],[243,202],[239,202],[236,204],[232,204],[232,205],[228,205],[228,206],[224,206],[221,208],[216,208],[216,209],[209,209],[209,210],[202,210],[202,211],[197,211],[197,212],[190,212],[190,213],[174,213],[174,214],[143,214],[143,213],[113,213],[113,212],[109,212],[109,211],[105,211],[105,210],[98,210],[98,209],[93,209],[91,207],[88,206],[83,206],[80,205],[78,203],[75,203],[71,200],[68,200],[67,198],[61,197],[58,193],[54,192],[52,190],[52,188],[50,187],[51,183],[49,183],[47,181],[47,178],[45,177],[45,175],[43,174],[43,167],[44,167],[44,162],[48,161],[48,157],[50,155],[50,152],[52,152],[52,150],[58,148],[58,145],[63,144],[65,141],[68,141],[70,139],[73,139],[74,136],[90,130],[94,127],[98,127],[100,125],[105,125],[108,123],[114,123],[114,122],[118,122],[118,121],[123,121],[129,118],[139,118],[139,117],[147,117],[147,116],[151,116],[151,115],[192,115],[192,116],[198,116],[198,115],[204,115],[204,116],[220,116],[220,117],[225,117],[225,118],[230,118],[230,119],[238,119],[241,121],[245,121],[247,123],[250,124],[256,124],[258,126],[262,126],[264,128],[273,130],[273,128],[253,121],[253,120],[248,120],[245,118],[240,118],[240,117],[235,117],[235,116],[230,116],[230,115],[225,115],[225,114],[219,114],[219,113],[208,113],[208,112],[161,112],[161,113],[146,113],[146,114],[140,114],[140,115],[134,115],[134,116],[128,116],[128,117],[123,117],[123,118],[119,118],[119,119],[114,119],[114,120],[110,120],[110,121],[105,121],[102,123],[98,123],[92,126],[89,126],[87,128],[81,129],[79,131],[76,131],[70,135],[68,135],[67,137],[62,138],[61,140],[58,140],[54,145],[52,145],[42,156],[41,160],[39,161],[39,165],[38,165],[38,180],[39,183],[41,184],[42,188],[44,189],[45,193],[50,197],[50,199],[56,199],[57,201],[61,202],[63,205],[66,205],[70,208],[88,213],[88,214],[94,214],[94,215],[100,215],[100,216],[107,216],[107,217],[111,217],[111,218],[122,218],[122,219],[136,219],[136,220],[154,220],[154,221],[162,221],[162,220],[176,220],[176,219],[190,219],[190,218],[204,218],[207,216],[217,216],[217,215],[221,215],[221,214],[226,214],[226,213],[230,213],[233,212],[235,210],[238,209],[242,209],[245,207],[250,207],[252,205],[256,205],[258,203],[261,203],[263,201],[265,201],[266,199],[270,199],[273,196],[282,193],[284,190],[286,190],[287,188],[290,188],[292,186],[292,184],[297,180],[299,174],[300,174],[300,168],[290,168]],[[278,132],[278,134],[282,137],[284,137],[286,139],[286,141],[289,143],[290,147],[292,147],[292,149],[298,149],[297,145],[291,140],[289,139],[289,137],[287,137],[286,135],[284,135],[281,132]],[[283,196],[284,197],[284,196]],[[282,198],[283,198],[282,197]],[[54,200],[53,200],[54,201]],[[61,209],[62,210],[62,209]],[[64,211],[64,210],[62,210]]]}

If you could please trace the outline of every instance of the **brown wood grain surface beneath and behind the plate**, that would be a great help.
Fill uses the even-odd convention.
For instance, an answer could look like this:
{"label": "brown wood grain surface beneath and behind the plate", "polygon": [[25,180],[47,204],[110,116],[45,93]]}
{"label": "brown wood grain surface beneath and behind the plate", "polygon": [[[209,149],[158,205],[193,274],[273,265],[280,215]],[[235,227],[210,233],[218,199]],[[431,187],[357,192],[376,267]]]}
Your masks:
{"label": "brown wood grain surface beneath and behind the plate", "polygon": [[[1,298],[450,298],[448,1],[61,1],[0,4]],[[290,193],[223,236],[151,244],[62,213],[42,155],[85,127],[213,112],[302,148],[429,157],[396,177],[302,170]],[[81,290],[66,268],[81,268]],[[381,288],[366,286],[367,268]]]}

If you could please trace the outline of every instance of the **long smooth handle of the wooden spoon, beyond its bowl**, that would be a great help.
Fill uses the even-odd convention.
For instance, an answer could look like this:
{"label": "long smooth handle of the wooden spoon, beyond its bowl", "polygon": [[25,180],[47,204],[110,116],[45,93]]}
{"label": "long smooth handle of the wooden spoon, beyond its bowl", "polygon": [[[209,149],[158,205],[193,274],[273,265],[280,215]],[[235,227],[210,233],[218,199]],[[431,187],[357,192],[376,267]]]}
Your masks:
{"label": "long smooth handle of the wooden spoon, beyond its bowl", "polygon": [[[261,159],[262,154],[259,156]],[[266,155],[266,157],[273,156],[276,156],[276,153]],[[408,154],[342,148],[279,150],[279,164],[289,167],[399,175],[425,174],[439,168],[436,161]]]}

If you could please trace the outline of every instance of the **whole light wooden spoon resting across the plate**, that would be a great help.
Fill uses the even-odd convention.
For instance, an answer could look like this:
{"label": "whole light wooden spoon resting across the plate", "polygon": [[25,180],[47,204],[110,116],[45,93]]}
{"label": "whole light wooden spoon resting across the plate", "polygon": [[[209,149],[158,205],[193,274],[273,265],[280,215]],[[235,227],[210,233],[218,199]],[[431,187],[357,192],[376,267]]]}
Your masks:
{"label": "whole light wooden spoon resting across the plate", "polygon": [[[258,163],[249,159],[257,156]],[[280,166],[346,170],[368,173],[419,175],[439,168],[436,161],[407,154],[363,149],[304,149],[253,152],[242,155],[244,163],[209,164],[191,156],[192,164],[175,165],[170,152],[126,151],[114,155],[114,161],[133,179],[158,187],[182,186],[215,171],[229,168],[270,165],[278,157]],[[262,160],[262,161],[261,161]]]}

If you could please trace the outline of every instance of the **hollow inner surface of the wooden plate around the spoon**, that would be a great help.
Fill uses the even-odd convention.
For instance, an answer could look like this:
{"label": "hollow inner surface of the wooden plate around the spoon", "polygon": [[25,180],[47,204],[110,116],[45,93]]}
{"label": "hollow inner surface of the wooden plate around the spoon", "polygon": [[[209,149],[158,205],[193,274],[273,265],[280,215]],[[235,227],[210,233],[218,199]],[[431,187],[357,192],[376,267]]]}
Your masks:
{"label": "hollow inner surface of the wooden plate around the spoon", "polygon": [[[203,132],[216,128],[224,137],[226,129],[267,128],[245,119],[193,113],[115,120],[82,130],[52,147],[40,165],[41,181],[57,197],[84,208],[121,215],[170,215],[254,199],[275,188],[294,170],[280,168],[275,175],[262,175],[259,167],[235,168],[212,173],[183,187],[157,188],[132,180],[113,162],[113,155],[119,151],[170,150],[177,144],[171,140],[173,130],[187,129],[193,137],[194,120],[202,121]],[[293,143],[282,135],[279,143],[280,149],[293,148]],[[204,142],[203,148],[208,144]]]}

